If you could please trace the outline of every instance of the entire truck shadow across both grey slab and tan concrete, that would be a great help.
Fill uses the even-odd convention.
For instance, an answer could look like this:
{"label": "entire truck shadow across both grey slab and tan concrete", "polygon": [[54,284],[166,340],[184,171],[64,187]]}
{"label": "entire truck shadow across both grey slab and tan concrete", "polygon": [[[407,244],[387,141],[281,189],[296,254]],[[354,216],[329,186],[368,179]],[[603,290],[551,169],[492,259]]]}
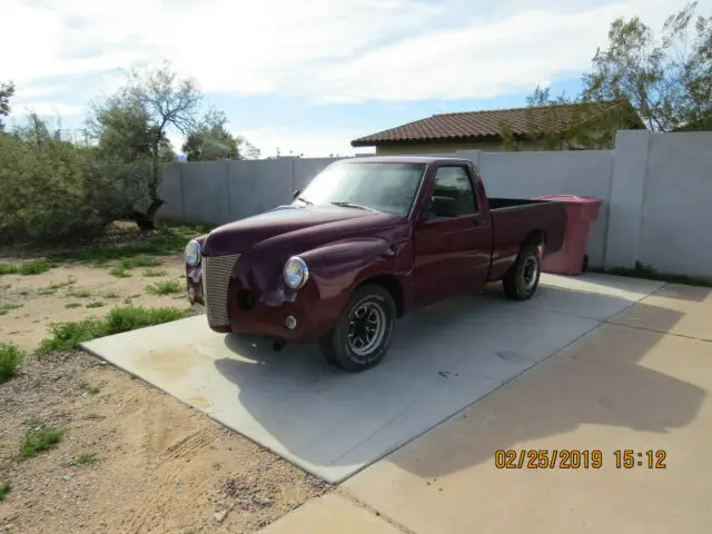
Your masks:
{"label": "entire truck shadow across both grey slab and tan concrete", "polygon": [[[640,364],[664,335],[601,325],[604,318],[596,317],[612,317],[630,300],[547,286],[522,304],[504,300],[495,286],[419,310],[398,323],[388,357],[356,375],[323,363],[313,345],[275,353],[266,340],[237,335],[226,336],[236,357],[215,365],[264,429],[317,466],[369,464],[485,396],[481,403],[493,419],[469,424],[455,441],[431,441],[438,462],[408,454],[412,445],[388,461],[421,476],[442,476],[492,462],[496,449],[581,425],[668,433],[695,417],[705,390]],[[666,328],[683,316],[635,306],[655,308],[646,312]],[[551,373],[561,379],[545,379]],[[502,385],[500,403],[488,394]],[[506,400],[511,389],[523,392],[517,402]]]}

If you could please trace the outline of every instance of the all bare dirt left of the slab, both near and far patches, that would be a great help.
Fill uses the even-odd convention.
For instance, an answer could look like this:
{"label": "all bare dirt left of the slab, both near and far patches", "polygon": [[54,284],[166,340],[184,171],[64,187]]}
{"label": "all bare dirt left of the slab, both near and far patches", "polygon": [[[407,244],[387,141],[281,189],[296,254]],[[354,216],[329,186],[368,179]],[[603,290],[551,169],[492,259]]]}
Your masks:
{"label": "all bare dirt left of the slab, both near and far patches", "polygon": [[[30,353],[19,374],[0,384],[0,487],[10,485],[0,532],[249,533],[328,491],[81,350],[31,355],[52,323],[99,318],[128,304],[187,309],[185,290],[146,290],[171,279],[185,287],[181,255],[155,258],[161,265],[135,267],[123,278],[86,264],[0,276],[0,343]],[[166,273],[146,276],[151,269]],[[18,459],[28,433],[43,426],[62,431],[60,443]]]}

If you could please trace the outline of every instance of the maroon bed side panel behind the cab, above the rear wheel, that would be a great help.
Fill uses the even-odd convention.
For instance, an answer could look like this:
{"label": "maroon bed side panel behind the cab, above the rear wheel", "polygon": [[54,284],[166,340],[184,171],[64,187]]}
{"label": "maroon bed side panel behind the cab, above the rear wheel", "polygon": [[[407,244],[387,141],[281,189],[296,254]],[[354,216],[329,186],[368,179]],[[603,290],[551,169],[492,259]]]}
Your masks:
{"label": "maroon bed side panel behind the cab, above the rear wheel", "polygon": [[527,239],[543,237],[545,255],[561,250],[566,228],[563,204],[513,198],[488,198],[487,201],[493,228],[492,281],[504,276]]}

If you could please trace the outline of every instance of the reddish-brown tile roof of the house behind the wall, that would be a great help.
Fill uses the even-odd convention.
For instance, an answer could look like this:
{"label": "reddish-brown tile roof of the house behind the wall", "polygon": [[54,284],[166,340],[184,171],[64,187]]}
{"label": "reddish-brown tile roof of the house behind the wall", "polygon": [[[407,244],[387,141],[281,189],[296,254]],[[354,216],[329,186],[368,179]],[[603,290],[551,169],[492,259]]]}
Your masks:
{"label": "reddish-brown tile roof of the house behind the wall", "polygon": [[[606,101],[589,106],[592,108],[595,106],[596,108],[602,107],[603,109],[610,109],[616,103],[620,102]],[[441,113],[354,139],[352,147],[370,147],[388,142],[457,141],[501,138],[501,125],[503,121],[508,125],[512,134],[515,136],[530,131],[527,128],[530,121],[537,129],[545,127],[551,130],[551,122],[555,120],[555,122],[557,122],[555,128],[561,131],[575,113],[581,113],[581,109],[582,108],[576,109],[575,105],[556,105]],[[581,117],[581,115],[578,115],[578,117]]]}

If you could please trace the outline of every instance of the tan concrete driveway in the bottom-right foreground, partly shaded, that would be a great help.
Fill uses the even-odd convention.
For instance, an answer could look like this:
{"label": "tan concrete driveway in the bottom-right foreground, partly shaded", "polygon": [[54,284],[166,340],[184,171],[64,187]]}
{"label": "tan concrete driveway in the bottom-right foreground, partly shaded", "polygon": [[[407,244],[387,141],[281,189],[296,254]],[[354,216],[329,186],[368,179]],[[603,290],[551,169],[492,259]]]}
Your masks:
{"label": "tan concrete driveway in the bottom-right foreground, partly shaded", "polygon": [[[602,325],[343,487],[418,534],[708,533],[710,362],[708,342]],[[602,466],[503,469],[497,449],[596,449]]]}

